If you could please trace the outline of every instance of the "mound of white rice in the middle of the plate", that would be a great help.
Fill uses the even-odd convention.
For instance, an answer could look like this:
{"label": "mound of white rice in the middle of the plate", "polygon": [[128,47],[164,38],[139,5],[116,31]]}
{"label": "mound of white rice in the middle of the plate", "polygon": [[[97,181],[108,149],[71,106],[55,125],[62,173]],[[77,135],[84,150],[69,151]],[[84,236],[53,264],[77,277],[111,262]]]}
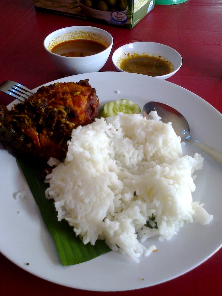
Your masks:
{"label": "mound of white rice in the middle of the plate", "polygon": [[192,175],[203,158],[183,156],[171,123],[158,121],[156,112],[154,118],[120,113],[79,126],[65,163],[47,177],[46,196],[54,199],[59,221],[66,219],[84,244],[104,239],[136,262],[156,249],[142,244],[150,237],[169,240],[184,222],[213,218],[192,200]]}

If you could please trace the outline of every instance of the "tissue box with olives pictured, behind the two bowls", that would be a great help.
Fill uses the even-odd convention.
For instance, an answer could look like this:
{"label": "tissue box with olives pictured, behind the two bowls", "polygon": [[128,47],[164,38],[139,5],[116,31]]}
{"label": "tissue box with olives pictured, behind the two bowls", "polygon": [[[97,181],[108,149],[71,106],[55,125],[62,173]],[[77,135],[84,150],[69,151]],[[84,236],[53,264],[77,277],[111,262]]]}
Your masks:
{"label": "tissue box with olives pictured, behind the two bowls", "polygon": [[132,29],[155,0],[34,0],[36,11]]}

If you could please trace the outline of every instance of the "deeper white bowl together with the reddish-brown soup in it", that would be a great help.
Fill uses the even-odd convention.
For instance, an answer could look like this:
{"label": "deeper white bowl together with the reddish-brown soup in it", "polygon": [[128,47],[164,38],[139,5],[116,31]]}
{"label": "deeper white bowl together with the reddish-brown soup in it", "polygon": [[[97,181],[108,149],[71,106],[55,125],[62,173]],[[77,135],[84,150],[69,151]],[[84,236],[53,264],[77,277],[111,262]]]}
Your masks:
{"label": "deeper white bowl together with the reddish-brown soup in it", "polygon": [[113,38],[92,26],[72,26],[50,33],[44,48],[54,65],[66,76],[98,72],[107,62]]}

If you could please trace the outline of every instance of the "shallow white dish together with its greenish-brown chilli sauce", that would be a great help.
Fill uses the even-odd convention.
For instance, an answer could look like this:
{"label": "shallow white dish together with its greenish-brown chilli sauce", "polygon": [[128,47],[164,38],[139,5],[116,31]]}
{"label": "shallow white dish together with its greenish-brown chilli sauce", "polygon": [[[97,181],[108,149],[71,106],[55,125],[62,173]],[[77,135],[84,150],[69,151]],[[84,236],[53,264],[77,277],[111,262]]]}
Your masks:
{"label": "shallow white dish together with its greenish-brown chilli sauce", "polygon": [[131,72],[167,79],[182,65],[181,55],[170,46],[155,42],[125,44],[112,55],[112,62],[120,72]]}

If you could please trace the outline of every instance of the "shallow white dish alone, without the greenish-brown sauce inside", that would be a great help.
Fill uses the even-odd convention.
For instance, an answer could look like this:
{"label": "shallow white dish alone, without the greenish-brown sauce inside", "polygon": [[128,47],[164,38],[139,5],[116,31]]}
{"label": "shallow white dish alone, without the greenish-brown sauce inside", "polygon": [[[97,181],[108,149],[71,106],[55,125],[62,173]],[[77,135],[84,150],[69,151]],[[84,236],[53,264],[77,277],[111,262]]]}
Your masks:
{"label": "shallow white dish alone, without the greenish-brown sauce inside", "polygon": [[120,72],[126,72],[120,68],[120,63],[126,58],[127,54],[145,54],[168,60],[172,65],[172,71],[166,75],[155,76],[160,79],[170,78],[180,69],[183,62],[181,55],[175,49],[167,45],[146,41],[134,42],[119,47],[112,55],[112,62]]}

